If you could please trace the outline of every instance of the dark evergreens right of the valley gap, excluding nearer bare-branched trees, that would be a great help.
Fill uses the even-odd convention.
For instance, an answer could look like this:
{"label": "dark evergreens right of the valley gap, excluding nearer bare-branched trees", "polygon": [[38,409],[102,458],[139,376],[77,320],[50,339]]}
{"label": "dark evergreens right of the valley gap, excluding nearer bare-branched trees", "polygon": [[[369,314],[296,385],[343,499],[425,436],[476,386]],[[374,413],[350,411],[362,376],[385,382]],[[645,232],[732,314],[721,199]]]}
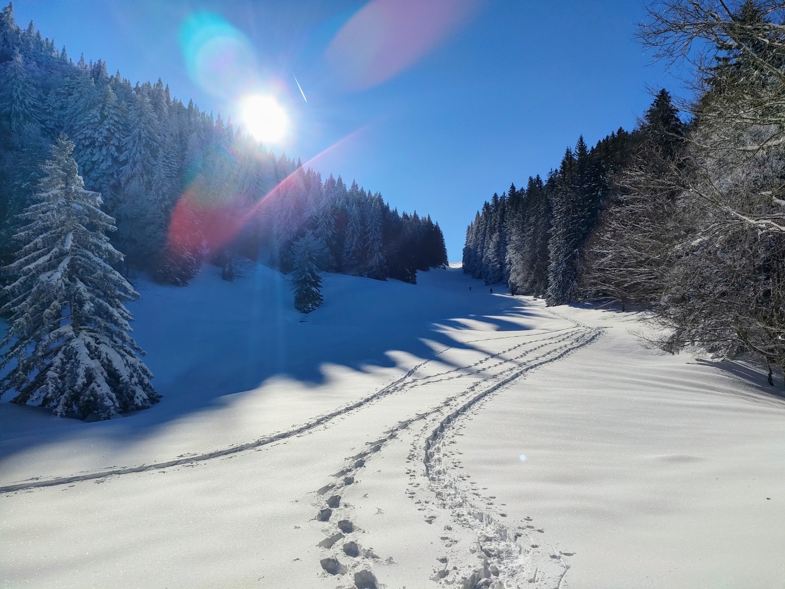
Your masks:
{"label": "dark evergreens right of the valley gap, excluding nearer bare-branched trees", "polygon": [[[561,305],[579,298],[587,243],[615,199],[614,178],[655,129],[680,128],[663,90],[639,129],[619,129],[588,148],[579,137],[546,180],[529,177],[484,203],[466,230],[463,271],[486,284],[505,283],[512,294]],[[663,133],[663,135],[665,135]]]}

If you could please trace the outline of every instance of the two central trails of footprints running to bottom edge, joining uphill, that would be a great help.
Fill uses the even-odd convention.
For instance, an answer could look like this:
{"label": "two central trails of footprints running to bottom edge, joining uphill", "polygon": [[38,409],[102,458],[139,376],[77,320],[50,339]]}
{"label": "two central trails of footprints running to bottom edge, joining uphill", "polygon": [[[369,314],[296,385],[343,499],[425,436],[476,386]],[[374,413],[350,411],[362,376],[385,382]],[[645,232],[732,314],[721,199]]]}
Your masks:
{"label": "two central trails of footprints running to bottom edge, joining uphill", "polygon": [[[429,430],[425,424],[419,434],[414,434],[414,448],[407,462],[418,459],[418,462],[424,466],[422,474],[429,491],[436,496],[436,502],[417,500],[416,503],[438,506],[442,514],[448,514],[455,523],[464,529],[469,529],[476,536],[476,548],[469,548],[469,552],[473,554],[452,553],[452,559],[440,558],[440,566],[434,570],[431,580],[444,580],[444,584],[455,584],[456,587],[465,589],[478,587],[513,589],[513,587],[531,587],[532,583],[536,583],[538,587],[555,589],[562,587],[564,576],[570,566],[562,557],[571,554],[557,552],[553,547],[551,547],[553,550],[548,551],[547,547],[543,548],[535,543],[528,531],[544,532],[544,530],[536,529],[534,525],[529,524],[531,518],[524,518],[517,528],[503,524],[500,519],[506,517],[506,514],[489,513],[487,506],[492,505],[492,502],[489,502],[490,498],[482,498],[479,493],[474,492],[474,495],[484,501],[484,506],[479,507],[476,503],[480,501],[471,499],[469,493],[459,487],[458,480],[448,473],[446,456],[443,452],[445,436],[455,431],[458,419],[462,416],[479,408],[483,401],[528,371],[564,358],[575,349],[590,344],[604,332],[603,328],[589,327],[579,321],[553,313],[550,309],[546,309],[546,312],[569,321],[574,327],[553,331],[564,331],[560,335],[528,339],[501,352],[489,354],[464,368],[418,378],[415,373],[424,365],[421,364],[408,373],[406,378],[412,379],[408,385],[403,382],[406,378],[398,381],[401,389],[410,390],[415,386],[480,375],[503,364],[511,364],[508,368],[502,368],[495,374],[489,374],[484,379],[473,382],[465,390],[448,397],[427,411],[403,419],[385,431],[382,437],[368,442],[368,448],[363,452],[349,457],[346,466],[331,477],[332,482],[316,491],[315,520],[327,524],[322,528],[325,538],[317,544],[325,551],[320,564],[323,574],[335,576],[339,589],[378,589],[380,585],[374,568],[382,562],[378,554],[361,547],[358,529],[352,521],[352,510],[343,502],[343,493],[349,485],[356,483],[356,476],[360,470],[367,466],[368,461],[381,452],[386,444],[396,440],[399,433],[409,430],[412,424],[429,418],[434,418],[436,427]],[[514,357],[503,357],[504,354],[524,346],[533,347],[524,349]],[[542,348],[545,350],[539,351]],[[534,355],[528,357],[532,354]],[[495,358],[501,360],[495,364],[488,364]],[[517,364],[516,360],[524,358],[526,359],[524,364]],[[482,364],[487,366],[476,368]],[[425,437],[424,443],[423,437]],[[407,470],[409,477],[415,477],[414,473],[414,470]],[[414,481],[410,481],[409,485],[414,488],[420,487],[420,483]],[[414,491],[409,491],[407,494],[411,499],[415,499]],[[418,508],[418,510],[425,509],[425,507]],[[436,515],[429,515],[425,521],[432,523],[435,519]],[[452,528],[446,525],[444,529],[449,532]],[[524,541],[524,536],[528,542]],[[457,543],[457,540],[452,540],[449,535],[442,536],[441,540],[444,541],[447,549]],[[479,568],[476,566],[477,553],[482,556],[482,564]],[[392,558],[388,558],[385,562],[392,562]],[[447,576],[450,578],[447,579]]]}

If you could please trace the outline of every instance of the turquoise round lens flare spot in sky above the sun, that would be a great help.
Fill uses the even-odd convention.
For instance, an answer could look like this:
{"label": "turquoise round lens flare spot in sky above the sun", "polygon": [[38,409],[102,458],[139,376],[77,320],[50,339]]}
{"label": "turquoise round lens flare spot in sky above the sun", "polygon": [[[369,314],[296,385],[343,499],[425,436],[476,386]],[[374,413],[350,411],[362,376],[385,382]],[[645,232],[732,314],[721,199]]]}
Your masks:
{"label": "turquoise round lens flare spot in sky above the sun", "polygon": [[250,40],[228,20],[193,13],[180,28],[180,46],[191,79],[218,97],[232,98],[257,86],[259,68]]}

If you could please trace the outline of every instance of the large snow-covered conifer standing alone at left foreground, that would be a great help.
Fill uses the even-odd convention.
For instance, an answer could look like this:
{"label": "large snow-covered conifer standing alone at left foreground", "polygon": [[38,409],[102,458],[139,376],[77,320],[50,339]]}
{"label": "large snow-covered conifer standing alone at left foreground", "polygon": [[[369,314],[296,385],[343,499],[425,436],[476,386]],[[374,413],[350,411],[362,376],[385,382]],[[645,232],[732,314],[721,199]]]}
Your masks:
{"label": "large snow-covered conifer standing alone at left foreground", "polygon": [[3,313],[9,330],[0,342],[0,379],[13,403],[36,404],[56,415],[110,419],[159,401],[152,374],[129,332],[124,302],[139,295],[110,263],[122,259],[106,232],[115,221],[100,210],[100,195],[85,190],[74,144],[61,135],[44,166],[35,203],[16,240],[23,243],[6,270]]}

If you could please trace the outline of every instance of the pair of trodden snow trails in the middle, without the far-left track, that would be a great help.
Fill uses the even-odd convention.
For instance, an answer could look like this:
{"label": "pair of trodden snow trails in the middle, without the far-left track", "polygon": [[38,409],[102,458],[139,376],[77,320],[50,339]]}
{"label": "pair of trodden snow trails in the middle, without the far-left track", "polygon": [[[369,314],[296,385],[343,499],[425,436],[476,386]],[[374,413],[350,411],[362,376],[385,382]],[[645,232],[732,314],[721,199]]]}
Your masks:
{"label": "pair of trodden snow trails in the middle, without the far-left track", "polygon": [[[465,390],[448,397],[441,403],[429,408],[429,410],[418,413],[410,418],[403,419],[397,423],[396,426],[385,431],[382,434],[382,437],[379,437],[375,441],[368,442],[368,448],[366,450],[351,456],[348,459],[347,466],[334,474],[334,482],[320,488],[319,491],[316,492],[318,496],[324,496],[327,492],[335,493],[330,496],[326,502],[323,499],[317,499],[314,504],[316,508],[316,521],[323,521],[319,518],[319,514],[322,514],[323,510],[326,508],[330,508],[333,514],[338,513],[338,518],[345,518],[338,521],[337,529],[335,525],[330,525],[330,527],[323,529],[322,531],[326,538],[317,544],[318,547],[323,548],[325,551],[329,551],[330,554],[327,558],[335,560],[336,562],[341,562],[341,567],[345,569],[345,573],[342,573],[341,576],[345,574],[347,579],[350,579],[352,571],[355,569],[362,569],[363,573],[369,573],[373,576],[374,567],[383,562],[372,550],[362,551],[358,548],[357,554],[360,558],[352,556],[346,551],[345,547],[347,544],[354,547],[360,546],[357,536],[358,533],[363,532],[362,529],[357,529],[353,523],[351,529],[347,530],[344,529],[344,527],[341,527],[341,523],[351,521],[350,518],[352,517],[351,506],[345,505],[340,499],[341,493],[345,490],[346,486],[348,486],[345,482],[346,479],[350,478],[352,484],[354,484],[358,473],[367,466],[368,461],[373,458],[376,453],[381,452],[386,444],[395,440],[401,430],[407,430],[413,423],[428,419],[432,416],[436,416],[436,419],[439,419],[439,416],[442,415],[442,419],[438,421],[438,426],[425,439],[425,444],[420,448],[425,466],[425,477],[429,482],[429,488],[436,495],[440,507],[453,515],[458,520],[458,523],[476,532],[480,550],[486,555],[480,569],[476,569],[476,567],[473,569],[471,565],[466,564],[469,559],[462,558],[462,567],[460,569],[455,569],[457,574],[453,574],[451,579],[446,580],[445,582],[447,584],[455,583],[458,587],[465,587],[466,589],[474,589],[475,587],[510,589],[511,587],[524,587],[524,585],[521,584],[522,581],[520,581],[521,575],[525,576],[526,574],[529,574],[528,578],[525,579],[527,583],[526,587],[531,587],[531,584],[529,584],[531,582],[545,582],[546,585],[542,585],[543,587],[561,586],[564,575],[569,569],[569,565],[561,562],[562,554],[549,554],[548,556],[550,558],[548,560],[550,562],[544,563],[547,566],[543,566],[542,563],[539,562],[532,565],[531,563],[535,560],[542,561],[542,558],[532,558],[539,554],[535,554],[535,549],[532,548],[532,546],[536,546],[534,542],[530,540],[528,547],[524,549],[524,547],[516,542],[516,540],[523,535],[522,532],[508,529],[507,526],[502,525],[502,523],[491,516],[491,514],[484,513],[484,511],[476,508],[469,497],[466,496],[466,493],[460,491],[456,481],[452,480],[447,474],[447,470],[444,467],[444,459],[441,454],[441,443],[444,440],[445,432],[449,430],[451,426],[454,426],[456,420],[466,414],[469,409],[476,407],[481,401],[484,401],[493,393],[502,390],[505,386],[509,385],[509,383],[519,379],[528,371],[538,368],[543,364],[550,364],[553,361],[560,360],[575,349],[590,344],[604,331],[602,329],[592,329],[564,316],[560,316],[560,318],[571,321],[571,323],[575,324],[575,327],[549,332],[549,334],[553,334],[557,331],[563,332],[559,335],[548,335],[545,338],[529,338],[525,342],[504,349],[501,352],[489,354],[487,357],[463,368],[455,368],[450,371],[418,378],[415,373],[419,368],[422,368],[421,364],[419,367],[415,368],[414,371],[410,372],[407,377],[411,378],[410,382],[404,383],[403,379],[398,381],[400,383],[398,386],[401,389],[408,390],[416,386],[425,386],[436,382],[443,382],[444,380],[478,375],[485,371],[491,371],[493,368],[498,368],[503,364],[512,364],[509,368],[503,368],[495,374],[488,374],[485,379],[473,382],[473,384],[468,386]],[[525,336],[526,335],[521,335],[520,337]],[[505,354],[509,354],[524,346],[530,347],[524,349],[521,353],[517,353],[513,357],[504,357]],[[543,348],[545,348],[545,350],[540,351]],[[501,360],[495,364],[490,364],[491,360],[499,358],[501,358]],[[517,364],[517,360],[524,360],[525,364]],[[483,366],[484,364],[487,365]],[[480,366],[483,368],[478,368]],[[491,383],[491,386],[487,386],[489,382]],[[479,392],[477,392],[478,390]],[[415,444],[418,439],[421,439],[421,437],[415,437]],[[414,474],[410,474],[410,476],[414,477]],[[419,486],[419,484],[415,483],[410,483],[410,485]],[[414,492],[410,491],[409,493],[413,499]],[[467,514],[469,517],[466,517]],[[425,521],[430,524],[435,519],[436,516],[431,515],[426,517]],[[334,540],[338,539],[338,537],[340,537],[341,540],[349,540],[349,542],[339,543],[338,540]],[[347,556],[350,558],[347,558]],[[519,562],[521,559],[523,559],[523,562]],[[444,580],[450,573],[453,573],[453,571],[448,569],[447,564],[447,558],[445,558],[443,571],[437,572],[436,575],[432,577],[432,580]],[[450,562],[449,564],[453,563]],[[535,567],[535,571],[533,574],[530,574],[532,566]],[[542,568],[542,570],[540,570],[540,568]],[[458,576],[461,578],[458,579]],[[553,579],[557,579],[556,584],[550,583],[550,580]],[[343,581],[344,580],[341,579],[341,583],[343,583]],[[375,576],[373,576],[373,582],[374,584],[377,583]],[[373,586],[375,587],[376,585]],[[339,584],[338,587],[351,587],[351,585]],[[361,586],[356,585],[356,587]]]}

